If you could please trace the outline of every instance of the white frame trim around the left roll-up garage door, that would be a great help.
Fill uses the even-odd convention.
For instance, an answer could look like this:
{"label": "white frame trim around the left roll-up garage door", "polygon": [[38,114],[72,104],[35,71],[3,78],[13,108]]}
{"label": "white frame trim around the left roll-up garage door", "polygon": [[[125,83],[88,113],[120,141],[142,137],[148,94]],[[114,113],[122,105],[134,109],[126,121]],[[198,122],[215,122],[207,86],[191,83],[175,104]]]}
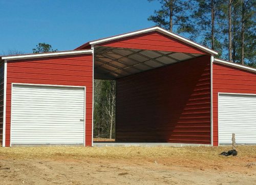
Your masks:
{"label": "white frame trim around the left roll-up garage door", "polygon": [[72,85],[51,85],[51,84],[32,84],[32,83],[12,83],[11,89],[11,126],[10,126],[10,147],[12,146],[12,90],[13,85],[27,85],[27,86],[50,86],[50,87],[74,87],[84,89],[84,110],[83,110],[83,146],[86,146],[86,86],[72,86]]}

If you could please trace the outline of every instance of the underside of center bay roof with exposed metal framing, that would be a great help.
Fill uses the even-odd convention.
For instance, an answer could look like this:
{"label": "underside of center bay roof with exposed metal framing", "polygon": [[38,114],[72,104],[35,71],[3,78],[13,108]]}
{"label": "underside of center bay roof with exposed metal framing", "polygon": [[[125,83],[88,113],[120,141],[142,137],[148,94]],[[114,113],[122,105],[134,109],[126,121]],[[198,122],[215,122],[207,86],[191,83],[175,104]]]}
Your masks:
{"label": "underside of center bay roof with exposed metal framing", "polygon": [[200,56],[203,55],[95,46],[94,78],[115,80]]}

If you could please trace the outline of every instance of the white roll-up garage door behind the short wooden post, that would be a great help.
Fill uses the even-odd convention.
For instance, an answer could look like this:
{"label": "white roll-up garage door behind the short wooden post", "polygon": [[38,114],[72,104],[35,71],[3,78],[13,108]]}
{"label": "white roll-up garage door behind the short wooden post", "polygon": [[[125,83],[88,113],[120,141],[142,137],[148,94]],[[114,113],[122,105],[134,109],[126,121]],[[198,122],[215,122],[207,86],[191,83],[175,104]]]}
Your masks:
{"label": "white roll-up garage door behind the short wooden post", "polygon": [[256,95],[219,94],[219,143],[256,144]]}

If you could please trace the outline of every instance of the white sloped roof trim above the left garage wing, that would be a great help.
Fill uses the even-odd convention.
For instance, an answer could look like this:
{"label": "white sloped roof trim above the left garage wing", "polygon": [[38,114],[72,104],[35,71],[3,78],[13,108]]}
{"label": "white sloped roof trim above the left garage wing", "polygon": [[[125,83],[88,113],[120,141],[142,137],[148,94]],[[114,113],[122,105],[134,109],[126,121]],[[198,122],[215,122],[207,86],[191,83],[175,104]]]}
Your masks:
{"label": "white sloped roof trim above the left garage wing", "polygon": [[92,53],[92,50],[79,50],[79,51],[66,51],[66,52],[54,52],[54,53],[36,53],[28,55],[16,55],[16,56],[3,56],[2,59],[5,60],[19,60],[27,58],[40,58],[40,57],[54,57],[54,56],[64,56],[64,55],[81,55]]}

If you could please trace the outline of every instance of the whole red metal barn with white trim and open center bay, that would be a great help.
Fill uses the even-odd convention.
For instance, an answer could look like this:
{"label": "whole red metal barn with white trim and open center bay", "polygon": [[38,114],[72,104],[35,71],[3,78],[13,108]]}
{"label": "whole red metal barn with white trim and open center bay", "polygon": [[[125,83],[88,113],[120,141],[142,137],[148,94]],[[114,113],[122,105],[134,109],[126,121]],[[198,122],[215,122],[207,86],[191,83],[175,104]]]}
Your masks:
{"label": "whole red metal barn with white trim and open center bay", "polygon": [[159,27],[3,56],[3,146],[93,145],[93,79],[116,80],[116,141],[256,144],[256,69]]}

